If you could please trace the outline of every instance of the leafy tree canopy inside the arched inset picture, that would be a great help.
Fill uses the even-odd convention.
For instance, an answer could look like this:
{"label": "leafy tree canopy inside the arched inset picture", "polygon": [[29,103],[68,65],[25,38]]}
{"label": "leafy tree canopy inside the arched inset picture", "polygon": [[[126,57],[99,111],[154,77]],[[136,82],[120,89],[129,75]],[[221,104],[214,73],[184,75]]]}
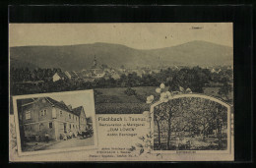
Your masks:
{"label": "leafy tree canopy inside the arched inset picture", "polygon": [[[163,112],[161,112],[162,109]],[[172,135],[170,133],[175,133],[175,137],[179,139],[184,139],[185,137],[194,139],[200,136],[203,141],[216,131],[215,138],[218,139],[219,148],[223,147],[223,130],[227,126],[227,109],[223,105],[204,98],[183,97],[173,99],[167,103],[161,103],[156,106],[155,112],[155,116],[157,116],[155,117],[155,122],[158,126],[156,131],[159,133],[158,146],[161,149],[164,148],[160,143],[160,139],[162,139],[160,135],[164,130],[168,133],[168,136]],[[164,117],[158,117],[160,113],[164,112],[165,115],[161,114]],[[169,138],[168,140],[171,139]],[[171,145],[168,143],[167,149],[170,147]]]}

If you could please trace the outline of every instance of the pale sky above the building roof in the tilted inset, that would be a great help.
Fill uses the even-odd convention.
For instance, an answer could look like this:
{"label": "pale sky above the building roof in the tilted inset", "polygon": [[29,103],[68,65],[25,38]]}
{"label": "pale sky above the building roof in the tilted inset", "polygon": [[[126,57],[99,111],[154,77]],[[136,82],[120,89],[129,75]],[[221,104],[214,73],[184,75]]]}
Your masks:
{"label": "pale sky above the building roof in the tilted inset", "polygon": [[95,115],[94,104],[95,100],[92,97],[90,91],[83,93],[74,93],[67,95],[50,95],[51,98],[57,101],[64,101],[66,105],[72,105],[72,108],[76,108],[79,106],[84,106],[85,113],[87,117],[91,117]]}

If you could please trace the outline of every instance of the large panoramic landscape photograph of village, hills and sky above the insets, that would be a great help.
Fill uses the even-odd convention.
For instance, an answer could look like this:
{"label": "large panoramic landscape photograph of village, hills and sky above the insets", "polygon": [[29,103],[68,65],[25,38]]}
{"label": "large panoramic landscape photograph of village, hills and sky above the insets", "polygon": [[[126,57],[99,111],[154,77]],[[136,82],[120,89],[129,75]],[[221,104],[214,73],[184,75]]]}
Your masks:
{"label": "large panoramic landscape photograph of village, hills and sky above the insets", "polygon": [[96,114],[142,114],[179,86],[233,101],[232,23],[10,24],[10,95],[94,89]]}

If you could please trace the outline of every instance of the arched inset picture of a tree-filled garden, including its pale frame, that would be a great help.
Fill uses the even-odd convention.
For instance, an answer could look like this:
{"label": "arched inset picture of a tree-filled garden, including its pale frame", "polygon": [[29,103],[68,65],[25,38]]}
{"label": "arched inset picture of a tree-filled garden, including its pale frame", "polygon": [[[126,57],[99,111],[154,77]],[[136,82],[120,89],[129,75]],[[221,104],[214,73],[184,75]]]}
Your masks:
{"label": "arched inset picture of a tree-filled garden, including its pale frame", "polygon": [[230,104],[192,92],[161,94],[160,101],[152,105],[154,150],[230,152]]}

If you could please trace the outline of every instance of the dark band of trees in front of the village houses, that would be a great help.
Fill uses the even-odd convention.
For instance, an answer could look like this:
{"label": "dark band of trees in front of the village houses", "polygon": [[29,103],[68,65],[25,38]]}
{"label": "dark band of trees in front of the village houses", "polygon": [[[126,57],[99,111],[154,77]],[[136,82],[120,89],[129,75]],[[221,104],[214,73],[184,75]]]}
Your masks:
{"label": "dark band of trees in front of the village houses", "polygon": [[[106,67],[106,66],[104,66]],[[191,88],[194,92],[203,92],[203,87],[208,84],[219,84],[221,79],[226,78],[232,82],[232,71],[223,70],[219,74],[211,73],[208,69],[199,67],[172,70],[170,68],[148,74],[138,75],[136,72],[120,74],[120,79],[100,78],[94,81],[87,79],[65,80],[59,83],[52,82],[52,76],[63,73],[61,69],[34,69],[28,68],[10,70],[11,94],[41,93],[52,91],[69,91],[92,88],[109,87],[135,87],[135,86],[158,86],[160,83],[167,84],[169,91],[178,90],[179,86]],[[209,85],[210,84],[210,85]],[[223,83],[224,85],[224,83]],[[224,85],[226,87],[228,85]],[[225,94],[224,89],[220,93]],[[141,98],[142,99],[142,98]]]}

